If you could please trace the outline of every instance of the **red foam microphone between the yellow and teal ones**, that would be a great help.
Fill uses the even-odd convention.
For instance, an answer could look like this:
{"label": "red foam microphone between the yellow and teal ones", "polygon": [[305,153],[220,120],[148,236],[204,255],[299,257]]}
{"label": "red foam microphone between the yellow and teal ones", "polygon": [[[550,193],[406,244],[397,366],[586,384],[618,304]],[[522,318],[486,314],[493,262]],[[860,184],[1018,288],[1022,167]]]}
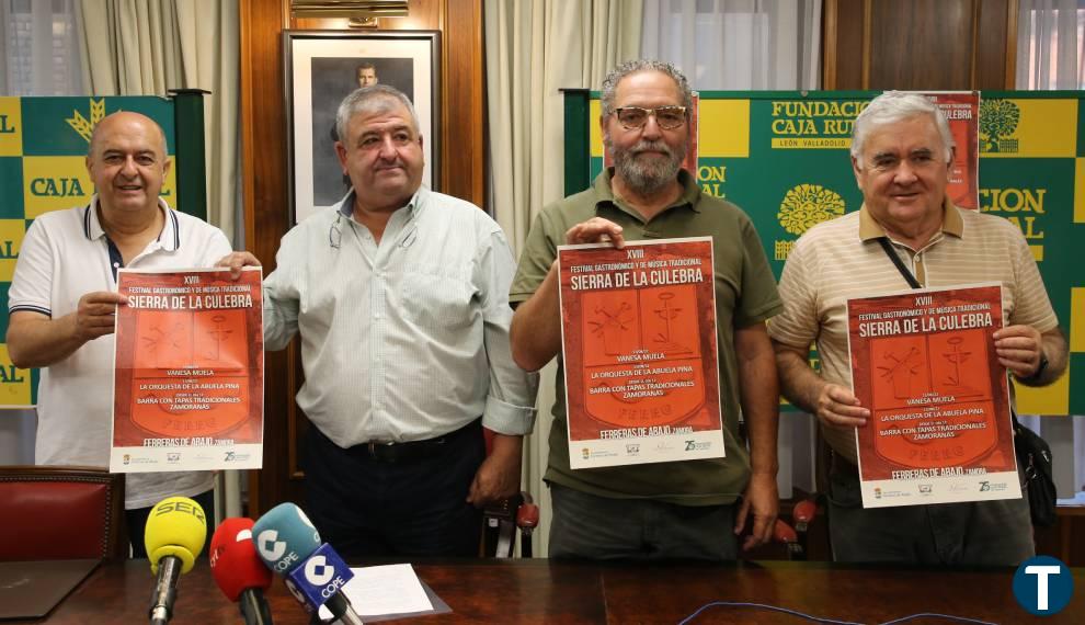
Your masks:
{"label": "red foam microphone between the yellow and teal ones", "polygon": [[272,575],[252,544],[252,519],[225,519],[210,543],[210,566],[215,583],[230,601],[238,603],[245,625],[271,625],[271,607],[264,591]]}

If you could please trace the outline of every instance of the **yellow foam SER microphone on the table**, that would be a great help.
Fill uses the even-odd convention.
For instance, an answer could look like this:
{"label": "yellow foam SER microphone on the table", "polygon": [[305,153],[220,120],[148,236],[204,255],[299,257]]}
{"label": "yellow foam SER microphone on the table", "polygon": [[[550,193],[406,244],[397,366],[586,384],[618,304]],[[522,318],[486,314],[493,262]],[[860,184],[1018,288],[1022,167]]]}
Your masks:
{"label": "yellow foam SER microphone on the table", "polygon": [[204,509],[187,497],[169,497],[151,508],[144,530],[144,546],[151,572],[158,576],[151,595],[152,625],[170,622],[178,580],[192,570],[206,537]]}

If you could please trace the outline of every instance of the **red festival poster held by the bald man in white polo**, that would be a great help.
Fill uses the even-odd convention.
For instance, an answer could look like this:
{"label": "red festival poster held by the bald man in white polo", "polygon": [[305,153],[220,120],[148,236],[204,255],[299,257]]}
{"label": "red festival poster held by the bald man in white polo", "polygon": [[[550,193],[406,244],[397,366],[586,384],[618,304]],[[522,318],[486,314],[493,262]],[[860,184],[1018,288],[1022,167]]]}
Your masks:
{"label": "red festival poster held by the bald man in white polo", "polygon": [[261,279],[119,270],[111,471],[262,466]]}

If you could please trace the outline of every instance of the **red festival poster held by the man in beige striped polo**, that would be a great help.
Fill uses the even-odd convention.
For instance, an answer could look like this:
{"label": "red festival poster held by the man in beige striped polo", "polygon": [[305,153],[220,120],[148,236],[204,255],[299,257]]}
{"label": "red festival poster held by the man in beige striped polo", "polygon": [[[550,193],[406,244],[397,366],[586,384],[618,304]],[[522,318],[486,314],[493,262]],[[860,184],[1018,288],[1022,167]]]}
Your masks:
{"label": "red festival poster held by the man in beige striped polo", "polygon": [[1019,498],[1002,286],[849,299],[847,321],[864,508]]}

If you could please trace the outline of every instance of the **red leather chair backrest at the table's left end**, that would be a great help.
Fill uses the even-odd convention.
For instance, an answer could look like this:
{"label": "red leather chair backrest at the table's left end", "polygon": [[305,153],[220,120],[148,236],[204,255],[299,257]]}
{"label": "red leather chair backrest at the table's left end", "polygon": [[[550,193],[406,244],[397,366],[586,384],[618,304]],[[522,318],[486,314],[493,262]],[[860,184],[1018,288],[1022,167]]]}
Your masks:
{"label": "red leather chair backrest at the table's left end", "polygon": [[124,559],[124,474],[0,466],[0,560]]}

